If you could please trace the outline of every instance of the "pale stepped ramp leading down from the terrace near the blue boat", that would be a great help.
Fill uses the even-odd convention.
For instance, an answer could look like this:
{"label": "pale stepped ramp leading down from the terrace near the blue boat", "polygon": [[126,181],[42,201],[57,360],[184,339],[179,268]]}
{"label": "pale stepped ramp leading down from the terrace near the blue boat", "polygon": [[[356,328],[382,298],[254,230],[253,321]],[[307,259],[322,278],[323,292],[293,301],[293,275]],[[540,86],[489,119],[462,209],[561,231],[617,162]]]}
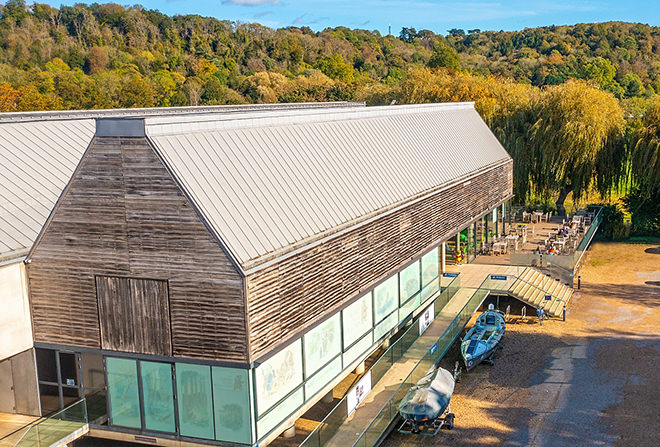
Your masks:
{"label": "pale stepped ramp leading down from the terrace near the blue boat", "polygon": [[508,293],[525,304],[543,309],[552,317],[561,317],[564,306],[573,296],[573,289],[529,267],[523,270]]}

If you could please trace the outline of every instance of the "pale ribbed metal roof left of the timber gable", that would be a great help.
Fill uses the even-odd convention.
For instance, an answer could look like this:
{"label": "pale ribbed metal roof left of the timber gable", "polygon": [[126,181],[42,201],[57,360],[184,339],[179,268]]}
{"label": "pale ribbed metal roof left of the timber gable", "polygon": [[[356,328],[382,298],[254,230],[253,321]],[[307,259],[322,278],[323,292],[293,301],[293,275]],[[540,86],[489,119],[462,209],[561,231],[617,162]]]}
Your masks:
{"label": "pale ribbed metal roof left of the timber gable", "polygon": [[0,261],[27,254],[94,130],[93,119],[0,121]]}

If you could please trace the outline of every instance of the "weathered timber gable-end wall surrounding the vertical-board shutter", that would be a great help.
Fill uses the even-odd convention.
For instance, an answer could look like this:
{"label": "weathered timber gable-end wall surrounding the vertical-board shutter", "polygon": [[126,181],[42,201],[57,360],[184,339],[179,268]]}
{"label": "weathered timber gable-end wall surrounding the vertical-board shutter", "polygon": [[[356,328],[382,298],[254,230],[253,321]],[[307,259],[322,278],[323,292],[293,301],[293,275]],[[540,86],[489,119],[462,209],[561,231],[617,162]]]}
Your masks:
{"label": "weathered timber gable-end wall surrounding the vertical-board shutter", "polygon": [[168,281],[172,352],[244,362],[243,281],[144,138],[96,138],[29,264],[35,340],[99,348],[95,275]]}

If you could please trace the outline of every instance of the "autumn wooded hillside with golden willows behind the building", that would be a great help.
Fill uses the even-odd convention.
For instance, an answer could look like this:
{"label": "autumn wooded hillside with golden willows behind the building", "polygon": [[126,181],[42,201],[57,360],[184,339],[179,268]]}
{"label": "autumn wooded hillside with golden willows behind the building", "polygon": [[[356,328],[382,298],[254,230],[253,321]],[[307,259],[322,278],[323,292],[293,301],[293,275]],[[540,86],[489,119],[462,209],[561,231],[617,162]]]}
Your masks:
{"label": "autumn wooded hillside with golden willows behind the building", "polygon": [[656,91],[660,28],[648,25],[382,36],[116,4],[0,6],[0,111],[475,101],[516,161],[519,200],[633,192],[629,210],[650,210],[644,225],[660,232]]}

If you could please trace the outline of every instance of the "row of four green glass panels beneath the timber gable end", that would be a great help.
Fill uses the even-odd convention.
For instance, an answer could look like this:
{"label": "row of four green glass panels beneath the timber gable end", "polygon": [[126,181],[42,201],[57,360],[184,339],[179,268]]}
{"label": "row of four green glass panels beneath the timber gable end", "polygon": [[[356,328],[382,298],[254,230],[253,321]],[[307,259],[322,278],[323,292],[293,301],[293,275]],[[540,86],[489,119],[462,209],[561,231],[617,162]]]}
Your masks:
{"label": "row of four green glass panels beneath the timber gable end", "polygon": [[105,372],[110,425],[252,444],[250,370],[105,357]]}

